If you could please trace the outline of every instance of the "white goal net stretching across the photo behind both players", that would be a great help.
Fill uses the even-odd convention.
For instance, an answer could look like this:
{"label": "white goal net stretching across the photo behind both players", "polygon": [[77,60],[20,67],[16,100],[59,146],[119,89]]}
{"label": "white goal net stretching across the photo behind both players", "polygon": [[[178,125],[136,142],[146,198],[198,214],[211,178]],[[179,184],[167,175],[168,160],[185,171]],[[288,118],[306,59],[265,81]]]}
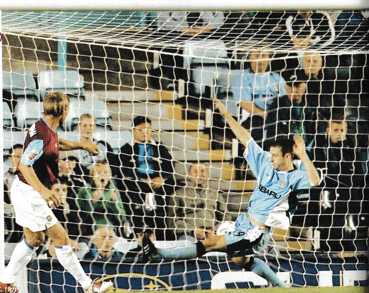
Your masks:
{"label": "white goal net stretching across the photo behind both players", "polygon": [[[125,290],[267,286],[223,253],[141,259],[144,229],[158,247],[189,245],[224,232],[263,188],[217,98],[266,151],[302,135],[325,173],[290,196],[291,226],[255,257],[293,286],[368,285],[368,11],[2,11],[1,25],[6,262],[23,236],[14,165],[45,95],[63,92],[59,137],[100,148],[61,152],[53,187],[92,278]],[[46,239],[22,292],[80,292],[54,257]]]}

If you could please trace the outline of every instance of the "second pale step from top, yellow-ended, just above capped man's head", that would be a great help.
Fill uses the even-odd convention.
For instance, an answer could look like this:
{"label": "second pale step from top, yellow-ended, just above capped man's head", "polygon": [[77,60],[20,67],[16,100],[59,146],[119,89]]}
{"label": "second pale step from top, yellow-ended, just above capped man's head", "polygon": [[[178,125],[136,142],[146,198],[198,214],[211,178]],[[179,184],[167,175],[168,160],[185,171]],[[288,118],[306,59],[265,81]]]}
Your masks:
{"label": "second pale step from top, yellow-ended, just above capped man's head", "polygon": [[157,118],[182,119],[182,107],[179,105],[168,105],[158,103],[108,103],[108,110],[113,119],[129,120],[134,116],[142,115],[151,120]]}

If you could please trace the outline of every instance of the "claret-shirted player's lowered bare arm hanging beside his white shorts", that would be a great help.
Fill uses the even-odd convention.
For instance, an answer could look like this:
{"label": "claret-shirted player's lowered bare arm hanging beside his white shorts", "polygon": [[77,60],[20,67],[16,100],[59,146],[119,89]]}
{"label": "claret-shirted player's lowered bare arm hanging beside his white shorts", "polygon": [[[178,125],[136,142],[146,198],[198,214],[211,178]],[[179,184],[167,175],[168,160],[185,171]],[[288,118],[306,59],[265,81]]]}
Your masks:
{"label": "claret-shirted player's lowered bare arm hanging beside his white shorts", "polygon": [[[27,181],[29,185],[31,185],[49,204],[49,206],[54,205],[54,207],[58,207],[60,205],[60,199],[55,196],[55,194],[47,189],[40,180],[37,178],[35,170],[31,166],[24,165],[23,163],[19,163],[18,169],[24,176],[24,179]],[[52,204],[51,202],[52,201]]]}

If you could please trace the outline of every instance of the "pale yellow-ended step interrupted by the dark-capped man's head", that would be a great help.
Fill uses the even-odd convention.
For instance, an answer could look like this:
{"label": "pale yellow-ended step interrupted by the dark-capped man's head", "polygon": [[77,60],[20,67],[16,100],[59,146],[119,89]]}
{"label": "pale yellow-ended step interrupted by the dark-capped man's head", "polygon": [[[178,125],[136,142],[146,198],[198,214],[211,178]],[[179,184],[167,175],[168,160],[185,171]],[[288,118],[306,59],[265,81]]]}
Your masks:
{"label": "pale yellow-ended step interrupted by the dark-capped man's head", "polygon": [[[152,118],[151,126],[153,130],[161,131],[199,131],[203,130],[205,127],[205,122],[203,120],[172,120],[166,118],[160,118],[156,120],[157,117]],[[155,119],[156,118],[156,119]],[[132,120],[113,120],[112,122],[113,130],[132,130]]]}

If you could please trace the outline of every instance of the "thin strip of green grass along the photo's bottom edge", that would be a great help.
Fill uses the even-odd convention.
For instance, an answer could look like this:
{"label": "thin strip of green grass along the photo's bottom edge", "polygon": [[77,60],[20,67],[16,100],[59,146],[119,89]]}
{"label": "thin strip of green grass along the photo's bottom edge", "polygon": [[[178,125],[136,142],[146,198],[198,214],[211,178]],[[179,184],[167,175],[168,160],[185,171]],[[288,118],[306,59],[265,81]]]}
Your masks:
{"label": "thin strip of green grass along the photo's bottom edge", "polygon": [[[168,291],[156,291],[168,292]],[[290,288],[258,288],[258,289],[220,289],[220,290],[173,290],[173,293],[367,293],[369,287],[290,287]]]}

